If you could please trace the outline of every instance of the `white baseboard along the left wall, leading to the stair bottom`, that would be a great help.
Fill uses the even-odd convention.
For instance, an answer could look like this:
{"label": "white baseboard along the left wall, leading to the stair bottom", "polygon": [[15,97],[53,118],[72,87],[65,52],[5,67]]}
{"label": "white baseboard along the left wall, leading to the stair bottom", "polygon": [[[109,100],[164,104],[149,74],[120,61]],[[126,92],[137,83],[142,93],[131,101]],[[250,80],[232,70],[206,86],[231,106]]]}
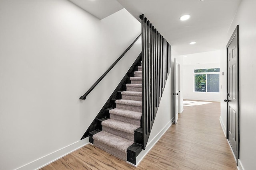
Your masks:
{"label": "white baseboard along the left wall, leading to the stair bottom", "polygon": [[24,166],[21,166],[17,170],[38,170],[50,163],[62,158],[63,156],[66,156],[67,154],[70,154],[71,152],[74,152],[75,150],[84,147],[88,143],[89,143],[89,137],[82,139],[80,141],[77,141],[75,143],[72,143],[71,145],[68,145],[62,149],[59,149],[59,150],[52,152],[46,156],[43,156],[42,158],[34,160],[33,162],[30,162]]}

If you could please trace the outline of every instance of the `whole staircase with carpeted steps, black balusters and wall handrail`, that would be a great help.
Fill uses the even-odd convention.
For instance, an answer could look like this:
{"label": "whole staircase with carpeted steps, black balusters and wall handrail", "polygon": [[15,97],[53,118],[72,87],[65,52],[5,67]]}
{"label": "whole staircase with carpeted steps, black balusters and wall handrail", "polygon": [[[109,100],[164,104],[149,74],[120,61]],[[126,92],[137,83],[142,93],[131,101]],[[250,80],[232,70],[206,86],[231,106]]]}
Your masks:
{"label": "whole staircase with carpeted steps, black balusters and wall handrail", "polygon": [[[171,67],[171,45],[142,14],[142,52],[92,121],[82,139],[136,165],[136,156],[146,149]],[[125,53],[80,97],[86,96]]]}

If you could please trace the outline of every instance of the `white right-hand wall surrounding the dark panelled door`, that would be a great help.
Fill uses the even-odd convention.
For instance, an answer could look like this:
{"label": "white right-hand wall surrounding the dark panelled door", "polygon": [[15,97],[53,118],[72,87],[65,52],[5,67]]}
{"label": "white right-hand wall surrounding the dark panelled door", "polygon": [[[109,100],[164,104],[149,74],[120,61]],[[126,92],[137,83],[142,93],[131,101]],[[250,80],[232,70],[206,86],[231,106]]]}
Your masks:
{"label": "white right-hand wall surrounding the dark panelled door", "polygon": [[[240,159],[238,167],[256,169],[256,1],[242,0],[230,29],[226,43],[239,24],[239,91],[240,91]],[[222,49],[221,69],[226,73],[226,47]],[[226,74],[224,74],[226,75]],[[222,81],[221,120],[226,128],[226,76]],[[225,129],[224,129],[225,130]]]}

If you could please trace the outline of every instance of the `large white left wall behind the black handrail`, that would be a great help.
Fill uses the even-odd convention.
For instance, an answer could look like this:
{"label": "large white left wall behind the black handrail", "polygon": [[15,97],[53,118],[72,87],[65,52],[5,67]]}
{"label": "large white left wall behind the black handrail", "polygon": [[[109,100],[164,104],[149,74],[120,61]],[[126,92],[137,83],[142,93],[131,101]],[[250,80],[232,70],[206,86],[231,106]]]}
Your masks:
{"label": "large white left wall behind the black handrail", "polygon": [[[79,97],[134,41],[141,26],[125,9],[98,20],[66,0],[0,3],[0,169],[12,170],[81,139],[141,44],[86,100]],[[31,169],[36,166],[42,164]]]}

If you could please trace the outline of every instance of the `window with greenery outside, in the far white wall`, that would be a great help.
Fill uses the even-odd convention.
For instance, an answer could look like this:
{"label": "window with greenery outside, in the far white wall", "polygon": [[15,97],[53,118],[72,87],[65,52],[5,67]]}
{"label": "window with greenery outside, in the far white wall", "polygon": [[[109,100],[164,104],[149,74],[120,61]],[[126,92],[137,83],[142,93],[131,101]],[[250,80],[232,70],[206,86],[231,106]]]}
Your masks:
{"label": "window with greenery outside, in the far white wall", "polygon": [[220,68],[194,70],[195,92],[220,92]]}

